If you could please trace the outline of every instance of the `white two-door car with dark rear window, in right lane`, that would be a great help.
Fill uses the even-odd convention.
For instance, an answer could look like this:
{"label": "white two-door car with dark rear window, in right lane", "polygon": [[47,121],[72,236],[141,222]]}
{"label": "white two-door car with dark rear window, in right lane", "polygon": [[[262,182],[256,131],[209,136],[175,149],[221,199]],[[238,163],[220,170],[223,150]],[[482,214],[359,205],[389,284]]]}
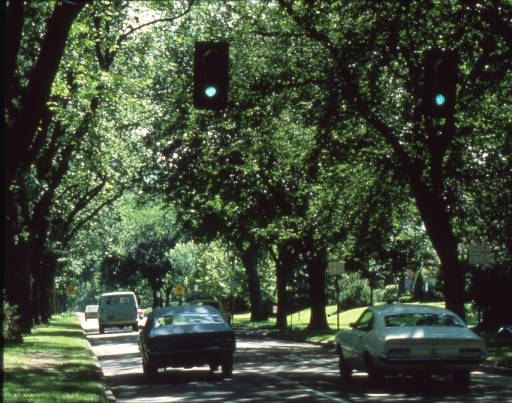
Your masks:
{"label": "white two-door car with dark rear window, in right lane", "polygon": [[455,313],[425,305],[381,305],[366,309],[351,329],[336,334],[340,375],[451,374],[467,387],[470,371],[485,360],[484,341]]}

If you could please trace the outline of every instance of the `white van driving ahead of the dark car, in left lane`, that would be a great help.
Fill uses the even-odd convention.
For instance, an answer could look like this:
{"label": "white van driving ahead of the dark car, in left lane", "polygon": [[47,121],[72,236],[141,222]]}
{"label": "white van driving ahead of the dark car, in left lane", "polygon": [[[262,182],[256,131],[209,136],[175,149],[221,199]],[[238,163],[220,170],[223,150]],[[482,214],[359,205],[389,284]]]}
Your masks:
{"label": "white van driving ahead of the dark car, in left lane", "polygon": [[124,326],[131,326],[135,332],[139,329],[138,316],[135,293],[124,291],[101,295],[98,307],[100,333],[104,333],[106,327]]}

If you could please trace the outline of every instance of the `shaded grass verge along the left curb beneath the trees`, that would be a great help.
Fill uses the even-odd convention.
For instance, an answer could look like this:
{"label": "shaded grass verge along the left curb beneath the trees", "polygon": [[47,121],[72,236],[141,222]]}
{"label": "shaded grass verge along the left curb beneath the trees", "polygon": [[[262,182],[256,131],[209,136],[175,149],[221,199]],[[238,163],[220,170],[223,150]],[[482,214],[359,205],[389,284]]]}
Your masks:
{"label": "shaded grass verge along the left curb beneath the trees", "polygon": [[76,315],[55,315],[3,346],[4,402],[107,402]]}

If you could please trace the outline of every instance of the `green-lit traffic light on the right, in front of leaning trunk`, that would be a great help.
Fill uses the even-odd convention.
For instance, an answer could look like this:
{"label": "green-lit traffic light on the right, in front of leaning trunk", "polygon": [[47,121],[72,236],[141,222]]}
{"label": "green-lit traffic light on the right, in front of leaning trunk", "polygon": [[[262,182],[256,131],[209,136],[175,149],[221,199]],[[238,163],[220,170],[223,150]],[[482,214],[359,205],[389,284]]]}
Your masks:
{"label": "green-lit traffic light on the right, in front of leaning trunk", "polygon": [[457,56],[430,49],[424,54],[423,105],[425,114],[442,118],[453,114],[457,84]]}

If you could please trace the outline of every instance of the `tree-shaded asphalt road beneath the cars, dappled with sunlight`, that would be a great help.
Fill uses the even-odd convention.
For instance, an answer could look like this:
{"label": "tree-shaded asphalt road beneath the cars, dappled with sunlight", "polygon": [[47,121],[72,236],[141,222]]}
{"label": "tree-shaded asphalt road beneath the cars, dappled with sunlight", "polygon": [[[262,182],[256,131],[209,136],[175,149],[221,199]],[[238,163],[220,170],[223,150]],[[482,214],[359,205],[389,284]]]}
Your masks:
{"label": "tree-shaded asphalt road beneath the cars, dappled with sunlight", "polygon": [[118,402],[512,402],[512,378],[474,372],[466,392],[449,378],[387,378],[370,383],[365,373],[348,382],[338,375],[332,349],[281,340],[237,339],[232,379],[208,367],[169,369],[156,380],[142,374],[137,332],[82,326]]}

